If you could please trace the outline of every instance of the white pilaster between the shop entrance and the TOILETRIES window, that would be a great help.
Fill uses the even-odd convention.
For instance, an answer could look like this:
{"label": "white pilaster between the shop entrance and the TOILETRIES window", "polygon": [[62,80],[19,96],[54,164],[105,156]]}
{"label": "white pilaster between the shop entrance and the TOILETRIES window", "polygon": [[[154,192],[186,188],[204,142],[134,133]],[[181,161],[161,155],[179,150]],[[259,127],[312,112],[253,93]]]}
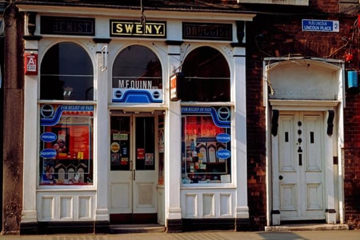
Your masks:
{"label": "white pilaster between the shop entrance and the TOILETRIES window", "polygon": [[[180,62],[180,47],[168,46],[168,72],[165,81],[169,81],[173,69],[177,69]],[[168,84],[165,86],[169,86]],[[168,92],[168,87],[166,92]],[[169,94],[166,93],[169,101]],[[171,174],[170,174],[171,173]],[[166,219],[181,219],[180,207],[181,180],[181,106],[180,102],[169,102],[169,110],[165,118],[165,209]]]}

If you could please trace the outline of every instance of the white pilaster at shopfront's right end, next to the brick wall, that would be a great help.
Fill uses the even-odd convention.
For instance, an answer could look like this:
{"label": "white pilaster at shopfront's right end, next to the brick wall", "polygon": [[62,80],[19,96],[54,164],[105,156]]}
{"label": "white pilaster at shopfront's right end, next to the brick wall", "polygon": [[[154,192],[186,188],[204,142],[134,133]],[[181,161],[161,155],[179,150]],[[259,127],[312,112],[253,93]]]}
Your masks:
{"label": "white pilaster at shopfront's right end, next to the brick wall", "polygon": [[236,218],[249,218],[248,188],[247,188],[247,132],[246,132],[246,64],[245,48],[234,47],[234,83],[232,88],[232,100],[235,102],[233,133],[235,143],[233,145],[236,159],[233,159],[233,167],[236,175]]}

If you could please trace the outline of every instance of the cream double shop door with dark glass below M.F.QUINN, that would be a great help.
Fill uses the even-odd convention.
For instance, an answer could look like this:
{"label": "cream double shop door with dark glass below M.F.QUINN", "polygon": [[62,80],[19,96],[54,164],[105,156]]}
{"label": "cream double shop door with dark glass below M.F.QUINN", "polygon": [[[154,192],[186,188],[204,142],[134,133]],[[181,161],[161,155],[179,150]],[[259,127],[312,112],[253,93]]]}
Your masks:
{"label": "cream double shop door with dark glass below M.F.QUINN", "polygon": [[110,137],[110,221],[155,223],[155,117],[111,116]]}

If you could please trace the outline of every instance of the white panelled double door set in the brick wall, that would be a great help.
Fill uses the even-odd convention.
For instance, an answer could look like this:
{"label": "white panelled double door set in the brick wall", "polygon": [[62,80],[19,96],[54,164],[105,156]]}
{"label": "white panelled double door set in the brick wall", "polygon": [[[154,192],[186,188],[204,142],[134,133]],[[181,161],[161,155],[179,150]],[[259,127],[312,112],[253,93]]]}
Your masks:
{"label": "white panelled double door set in the brick wall", "polygon": [[321,112],[280,112],[272,135],[273,210],[281,220],[325,219]]}

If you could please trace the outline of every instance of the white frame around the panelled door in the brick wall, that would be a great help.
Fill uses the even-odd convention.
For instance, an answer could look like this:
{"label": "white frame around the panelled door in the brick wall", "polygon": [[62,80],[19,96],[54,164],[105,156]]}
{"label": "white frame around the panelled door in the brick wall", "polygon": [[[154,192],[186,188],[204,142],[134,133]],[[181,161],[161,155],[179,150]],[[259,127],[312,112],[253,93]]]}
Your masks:
{"label": "white frame around the panelled door in the brick wall", "polygon": [[[299,111],[299,112],[323,112],[323,137],[324,137],[324,209],[326,223],[336,223],[339,218],[340,223],[343,222],[342,205],[342,182],[339,181],[341,176],[342,163],[338,161],[338,168],[334,165],[333,156],[341,159],[341,152],[343,146],[343,111],[340,101],[313,101],[313,100],[268,100],[266,110],[266,174],[267,174],[267,225],[280,225],[280,209],[274,206],[273,197],[273,171],[272,171],[272,116],[273,110],[280,111]],[[327,120],[329,117],[328,110],[335,113],[333,119],[333,134],[329,136],[327,132]],[[334,166],[333,168],[326,168],[326,166]],[[339,171],[335,173],[335,171]],[[334,174],[335,173],[335,174]],[[339,176],[337,175],[339,174]],[[335,177],[334,177],[335,176]],[[334,189],[336,188],[336,191]],[[336,192],[336,195],[335,195]],[[336,199],[336,201],[335,201]],[[337,217],[338,216],[338,217]]]}

